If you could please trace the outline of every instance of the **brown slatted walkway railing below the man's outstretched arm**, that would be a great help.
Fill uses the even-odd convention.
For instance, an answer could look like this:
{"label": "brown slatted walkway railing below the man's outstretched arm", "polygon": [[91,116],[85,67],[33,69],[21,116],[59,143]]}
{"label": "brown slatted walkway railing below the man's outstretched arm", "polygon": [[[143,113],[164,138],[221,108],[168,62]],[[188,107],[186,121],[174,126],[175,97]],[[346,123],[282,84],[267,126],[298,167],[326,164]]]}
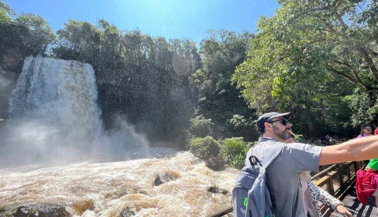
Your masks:
{"label": "brown slatted walkway railing below the man's outstretched arm", "polygon": [[[325,189],[332,196],[341,198],[352,187],[356,180],[357,170],[364,167],[364,161],[349,161],[344,164],[336,164],[311,177],[315,185]],[[328,206],[321,206],[323,216],[329,216],[333,211]],[[233,211],[232,205],[214,212],[208,217],[221,217]]]}

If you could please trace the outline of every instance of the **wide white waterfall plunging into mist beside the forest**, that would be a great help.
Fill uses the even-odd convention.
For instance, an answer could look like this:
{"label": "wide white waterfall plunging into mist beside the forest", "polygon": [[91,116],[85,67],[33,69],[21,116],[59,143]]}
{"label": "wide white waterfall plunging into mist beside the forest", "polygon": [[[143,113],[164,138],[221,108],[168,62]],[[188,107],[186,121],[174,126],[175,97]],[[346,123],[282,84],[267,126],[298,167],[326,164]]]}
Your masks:
{"label": "wide white waterfall plunging into mist beside the forest", "polygon": [[93,68],[77,61],[26,58],[9,112],[12,144],[80,150],[102,133]]}

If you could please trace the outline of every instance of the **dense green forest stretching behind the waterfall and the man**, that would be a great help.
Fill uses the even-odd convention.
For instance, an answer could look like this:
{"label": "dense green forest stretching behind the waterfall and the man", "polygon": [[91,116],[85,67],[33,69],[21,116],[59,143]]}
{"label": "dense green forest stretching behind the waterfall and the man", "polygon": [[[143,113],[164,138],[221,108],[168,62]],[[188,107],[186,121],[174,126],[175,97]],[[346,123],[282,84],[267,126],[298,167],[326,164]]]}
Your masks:
{"label": "dense green forest stretching behind the waterfall and the man", "polygon": [[[254,121],[269,111],[292,112],[294,132],[307,138],[352,138],[359,125],[376,126],[378,2],[278,2],[256,33],[209,30],[199,46],[102,19],[68,20],[54,32],[0,2],[0,66],[20,73],[39,53],[89,63],[105,128],[121,115],[149,139],[180,147],[207,135],[253,141]],[[9,56],[21,64],[8,66]]]}

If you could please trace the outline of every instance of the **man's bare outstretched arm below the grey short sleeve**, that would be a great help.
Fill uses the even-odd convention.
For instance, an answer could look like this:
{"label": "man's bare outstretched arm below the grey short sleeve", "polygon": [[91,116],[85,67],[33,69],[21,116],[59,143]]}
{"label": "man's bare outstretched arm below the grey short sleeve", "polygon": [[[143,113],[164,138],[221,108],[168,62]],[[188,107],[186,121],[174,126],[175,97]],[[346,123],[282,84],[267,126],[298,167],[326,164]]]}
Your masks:
{"label": "man's bare outstretched arm below the grey short sleeve", "polygon": [[323,147],[319,165],[338,164],[378,158],[378,135],[352,139],[339,145]]}

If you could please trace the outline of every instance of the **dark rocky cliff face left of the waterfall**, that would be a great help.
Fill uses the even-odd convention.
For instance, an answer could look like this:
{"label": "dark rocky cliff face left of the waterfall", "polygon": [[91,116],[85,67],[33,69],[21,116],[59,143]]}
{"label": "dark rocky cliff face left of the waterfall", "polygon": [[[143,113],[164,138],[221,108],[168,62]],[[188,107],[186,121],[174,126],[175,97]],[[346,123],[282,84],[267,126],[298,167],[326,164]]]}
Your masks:
{"label": "dark rocky cliff face left of the waterfall", "polygon": [[0,119],[8,116],[9,98],[16,87],[23,65],[24,57],[14,49],[8,50],[0,60]]}

